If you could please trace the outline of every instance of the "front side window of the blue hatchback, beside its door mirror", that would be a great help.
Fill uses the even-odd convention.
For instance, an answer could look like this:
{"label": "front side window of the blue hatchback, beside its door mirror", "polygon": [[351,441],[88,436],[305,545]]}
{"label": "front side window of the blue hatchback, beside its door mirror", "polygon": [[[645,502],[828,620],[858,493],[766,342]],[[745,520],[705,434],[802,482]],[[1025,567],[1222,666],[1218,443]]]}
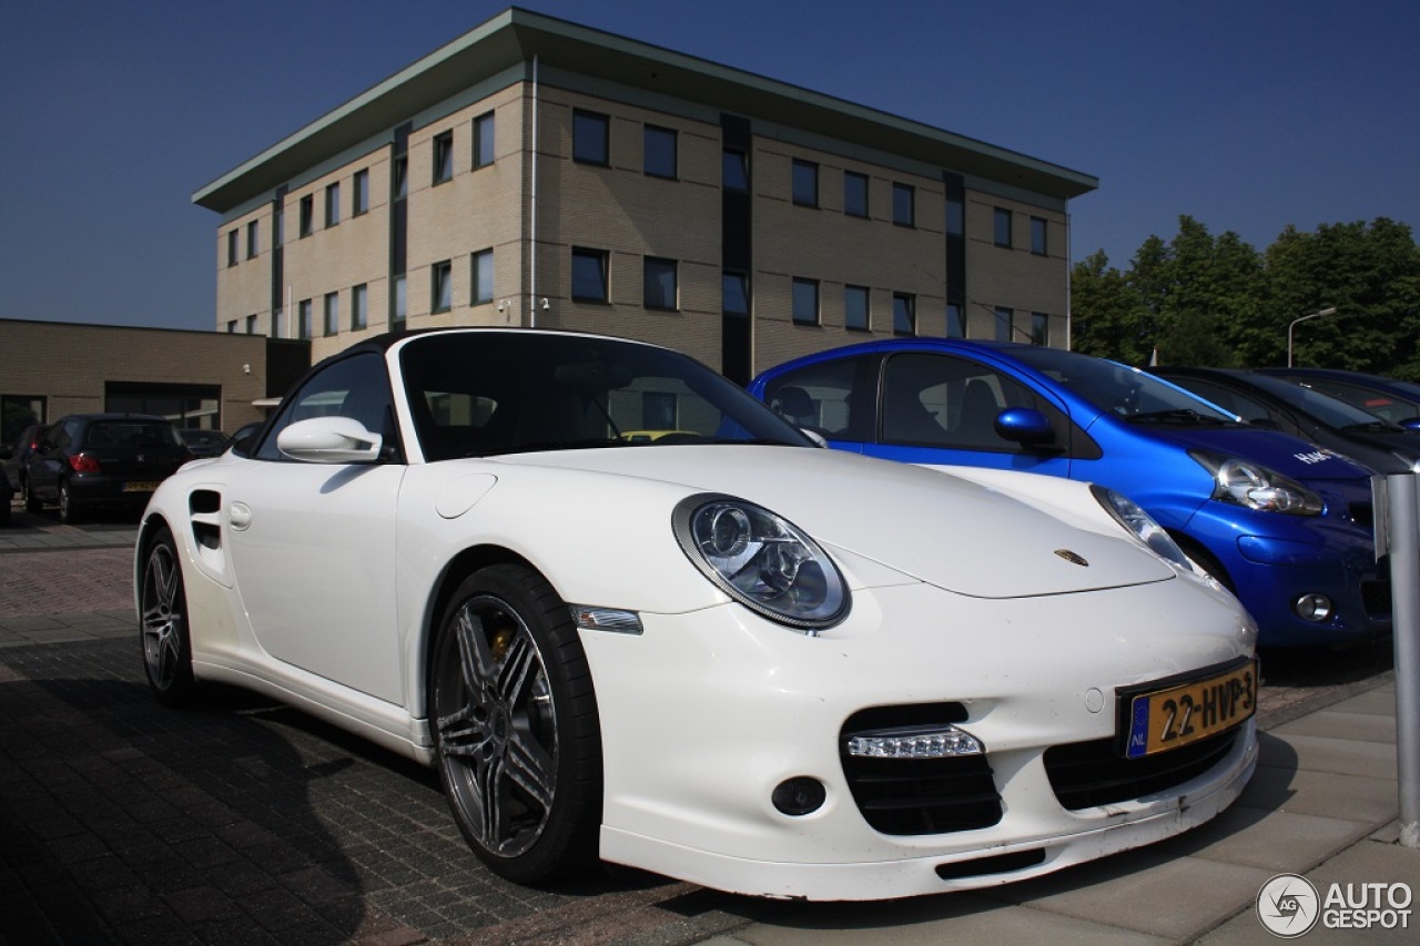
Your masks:
{"label": "front side window of the blue hatchback, beside its door mirror", "polygon": [[1007,408],[1034,408],[1069,436],[1065,415],[1010,375],[951,355],[893,355],[883,369],[882,442],[1020,453],[995,432]]}

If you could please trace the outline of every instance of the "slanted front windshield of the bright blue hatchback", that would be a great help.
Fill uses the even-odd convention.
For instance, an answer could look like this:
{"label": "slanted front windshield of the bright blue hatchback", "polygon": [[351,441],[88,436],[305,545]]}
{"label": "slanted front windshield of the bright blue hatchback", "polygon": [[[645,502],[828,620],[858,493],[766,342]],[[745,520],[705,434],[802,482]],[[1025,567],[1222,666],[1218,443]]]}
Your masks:
{"label": "slanted front windshield of the bright blue hatchback", "polygon": [[1241,423],[1231,413],[1137,368],[1039,345],[1012,347],[1010,354],[1098,409],[1135,423],[1190,426]]}

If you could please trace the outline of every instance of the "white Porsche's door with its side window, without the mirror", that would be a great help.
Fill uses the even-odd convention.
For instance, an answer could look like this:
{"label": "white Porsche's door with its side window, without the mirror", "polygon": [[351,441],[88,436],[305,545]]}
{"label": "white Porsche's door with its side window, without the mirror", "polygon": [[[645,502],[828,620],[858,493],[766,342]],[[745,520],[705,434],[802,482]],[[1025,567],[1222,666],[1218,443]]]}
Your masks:
{"label": "white Porsche's door with its side window, without the mirror", "polygon": [[236,588],[273,658],[362,693],[403,703],[395,597],[395,509],[405,464],[302,463],[275,446],[298,420],[339,415],[381,433],[383,361],[331,364],[287,399],[223,497]]}

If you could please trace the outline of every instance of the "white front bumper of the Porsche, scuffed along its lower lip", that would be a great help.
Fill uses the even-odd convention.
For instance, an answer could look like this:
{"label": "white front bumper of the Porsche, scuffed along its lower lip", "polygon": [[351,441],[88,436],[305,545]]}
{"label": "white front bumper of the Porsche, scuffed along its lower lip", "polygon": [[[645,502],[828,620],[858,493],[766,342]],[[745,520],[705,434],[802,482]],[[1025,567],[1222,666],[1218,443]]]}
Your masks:
{"label": "white front bumper of the Porsche, scuffed along its lower lip", "polygon": [[[1251,621],[1191,580],[995,601],[855,589],[849,619],[818,638],[736,605],[642,619],[642,635],[582,635],[602,722],[602,858],[719,889],[882,899],[1022,879],[1201,824],[1257,764],[1248,722],[1166,790],[1069,810],[1051,787],[1049,747],[1115,737],[1116,687],[1251,652]],[[985,746],[1000,820],[873,830],[845,776],[845,722],[943,702],[966,707],[961,729]],[[795,777],[826,788],[812,814],[771,801]]]}

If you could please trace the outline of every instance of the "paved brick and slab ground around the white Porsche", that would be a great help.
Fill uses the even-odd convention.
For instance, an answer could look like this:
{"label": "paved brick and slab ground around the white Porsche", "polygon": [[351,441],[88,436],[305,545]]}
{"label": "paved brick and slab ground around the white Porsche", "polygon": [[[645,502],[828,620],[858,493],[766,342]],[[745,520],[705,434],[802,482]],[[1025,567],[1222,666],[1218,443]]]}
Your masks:
{"label": "paved brick and slab ground around the white Porsche", "polygon": [[1367,666],[1264,689],[1262,764],[1214,822],[1049,878],[866,905],[632,871],[507,884],[429,770],[236,689],[158,706],[132,524],[17,520],[0,530],[0,943],[1230,945],[1271,940],[1251,899],[1277,872],[1420,888],[1420,852],[1394,844],[1392,675]]}

